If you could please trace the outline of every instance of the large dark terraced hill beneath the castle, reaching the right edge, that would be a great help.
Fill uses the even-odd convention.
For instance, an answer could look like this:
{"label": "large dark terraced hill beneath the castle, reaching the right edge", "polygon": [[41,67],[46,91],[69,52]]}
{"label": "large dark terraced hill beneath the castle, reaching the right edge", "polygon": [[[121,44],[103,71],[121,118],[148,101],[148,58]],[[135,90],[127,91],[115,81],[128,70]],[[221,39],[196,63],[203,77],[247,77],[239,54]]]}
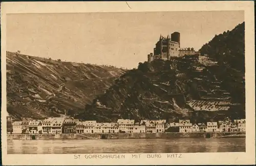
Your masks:
{"label": "large dark terraced hill beneath the castle, reaching the right edge", "polygon": [[[243,27],[240,24],[212,39],[201,48],[202,56],[140,63],[138,69],[116,79],[93,104],[87,104],[77,118],[106,122],[118,118],[183,117],[201,122],[244,118],[244,61],[235,65],[244,58]],[[221,50],[229,54],[221,57]]]}

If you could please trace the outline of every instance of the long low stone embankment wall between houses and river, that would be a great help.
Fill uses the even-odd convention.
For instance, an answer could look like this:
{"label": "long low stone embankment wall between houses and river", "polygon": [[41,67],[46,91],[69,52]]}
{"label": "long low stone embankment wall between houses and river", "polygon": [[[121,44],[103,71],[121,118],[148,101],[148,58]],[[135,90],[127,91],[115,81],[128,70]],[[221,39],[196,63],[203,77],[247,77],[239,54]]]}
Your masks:
{"label": "long low stone embankment wall between houses and river", "polygon": [[232,137],[245,137],[245,132],[7,134],[7,140],[221,138],[228,137],[228,135]]}

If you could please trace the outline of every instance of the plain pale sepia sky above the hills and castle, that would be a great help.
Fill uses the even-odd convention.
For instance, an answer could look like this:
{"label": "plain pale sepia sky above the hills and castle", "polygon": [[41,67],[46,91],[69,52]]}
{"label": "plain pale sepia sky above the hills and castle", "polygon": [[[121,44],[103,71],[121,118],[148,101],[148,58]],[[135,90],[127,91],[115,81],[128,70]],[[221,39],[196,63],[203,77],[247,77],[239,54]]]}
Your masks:
{"label": "plain pale sepia sky above the hills and castle", "polygon": [[8,14],[7,51],[137,68],[160,34],[180,32],[181,47],[196,50],[244,21],[243,11]]}

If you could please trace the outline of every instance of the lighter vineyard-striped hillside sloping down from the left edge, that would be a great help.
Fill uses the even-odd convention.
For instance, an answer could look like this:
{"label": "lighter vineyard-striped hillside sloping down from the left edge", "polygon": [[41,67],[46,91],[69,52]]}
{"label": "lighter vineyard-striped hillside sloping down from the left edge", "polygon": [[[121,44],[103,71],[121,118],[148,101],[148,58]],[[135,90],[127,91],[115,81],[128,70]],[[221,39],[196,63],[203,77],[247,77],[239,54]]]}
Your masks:
{"label": "lighter vineyard-striped hillside sloping down from the left edge", "polygon": [[123,69],[7,52],[7,112],[44,118],[74,116],[111,87]]}

